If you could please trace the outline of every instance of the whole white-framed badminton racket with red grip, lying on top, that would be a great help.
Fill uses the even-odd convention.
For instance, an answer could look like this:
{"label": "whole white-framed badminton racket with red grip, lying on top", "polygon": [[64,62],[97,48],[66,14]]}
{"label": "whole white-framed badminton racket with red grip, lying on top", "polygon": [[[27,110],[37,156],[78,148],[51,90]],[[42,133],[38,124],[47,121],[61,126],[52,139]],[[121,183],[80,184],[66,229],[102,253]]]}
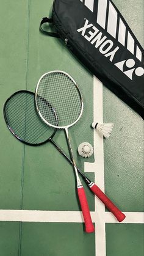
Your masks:
{"label": "whole white-framed badminton racket with red grip, lying on top", "polygon": [[[56,123],[52,111],[49,111],[49,108],[46,108],[43,99],[51,105],[51,109],[56,111],[58,123]],[[48,72],[41,76],[38,81],[35,90],[35,104],[38,114],[43,122],[53,128],[65,130],[76,177],[77,195],[79,197],[85,222],[85,232],[91,233],[94,231],[94,226],[90,216],[84,187],[82,186],[82,182],[76,169],[70,137],[68,135],[68,128],[76,124],[82,115],[83,101],[79,88],[73,78],[67,73],[63,71]]]}

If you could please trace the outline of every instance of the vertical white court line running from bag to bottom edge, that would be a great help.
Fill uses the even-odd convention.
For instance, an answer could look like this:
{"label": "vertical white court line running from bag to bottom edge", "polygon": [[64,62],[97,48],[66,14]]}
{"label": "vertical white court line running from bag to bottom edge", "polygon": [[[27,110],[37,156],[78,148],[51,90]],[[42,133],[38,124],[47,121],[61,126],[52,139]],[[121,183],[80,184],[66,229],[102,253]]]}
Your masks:
{"label": "vertical white court line running from bag to bottom edge", "polygon": [[[103,123],[103,84],[95,76],[93,77],[93,122]],[[95,154],[95,183],[104,191],[104,145],[103,136],[94,130],[94,154]],[[106,255],[106,231],[104,222],[105,206],[95,197],[96,235],[95,255]]]}

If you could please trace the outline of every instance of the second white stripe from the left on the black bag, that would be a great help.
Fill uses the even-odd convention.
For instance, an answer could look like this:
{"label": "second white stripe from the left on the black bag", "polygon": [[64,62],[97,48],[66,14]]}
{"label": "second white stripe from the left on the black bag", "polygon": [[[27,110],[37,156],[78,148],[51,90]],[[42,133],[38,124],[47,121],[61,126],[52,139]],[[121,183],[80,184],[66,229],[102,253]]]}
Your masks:
{"label": "second white stripe from the left on the black bag", "polygon": [[107,0],[98,1],[98,16],[97,23],[105,29],[106,26],[106,10],[107,10]]}

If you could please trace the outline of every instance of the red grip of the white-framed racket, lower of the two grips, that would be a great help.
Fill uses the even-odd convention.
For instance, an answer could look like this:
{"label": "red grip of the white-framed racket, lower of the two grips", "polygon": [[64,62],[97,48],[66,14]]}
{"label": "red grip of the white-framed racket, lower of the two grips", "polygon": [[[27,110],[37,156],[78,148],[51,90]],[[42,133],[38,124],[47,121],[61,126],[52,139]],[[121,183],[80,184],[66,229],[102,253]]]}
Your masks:
{"label": "red grip of the white-framed racket, lower of the two grips", "polygon": [[84,216],[85,232],[92,233],[95,231],[95,227],[90,216],[90,210],[88,207],[87,197],[85,195],[84,188],[77,188],[77,193],[79,196],[79,202],[81,204],[82,214]]}

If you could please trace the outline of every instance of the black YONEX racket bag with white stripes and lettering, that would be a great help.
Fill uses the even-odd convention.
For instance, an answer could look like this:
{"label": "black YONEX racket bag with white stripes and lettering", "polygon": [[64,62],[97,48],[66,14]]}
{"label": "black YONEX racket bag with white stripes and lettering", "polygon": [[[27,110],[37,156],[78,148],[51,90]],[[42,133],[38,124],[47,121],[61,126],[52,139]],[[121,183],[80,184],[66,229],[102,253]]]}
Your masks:
{"label": "black YONEX racket bag with white stripes and lettering", "polygon": [[40,29],[60,37],[93,75],[144,117],[144,51],[112,1],[55,0]]}

